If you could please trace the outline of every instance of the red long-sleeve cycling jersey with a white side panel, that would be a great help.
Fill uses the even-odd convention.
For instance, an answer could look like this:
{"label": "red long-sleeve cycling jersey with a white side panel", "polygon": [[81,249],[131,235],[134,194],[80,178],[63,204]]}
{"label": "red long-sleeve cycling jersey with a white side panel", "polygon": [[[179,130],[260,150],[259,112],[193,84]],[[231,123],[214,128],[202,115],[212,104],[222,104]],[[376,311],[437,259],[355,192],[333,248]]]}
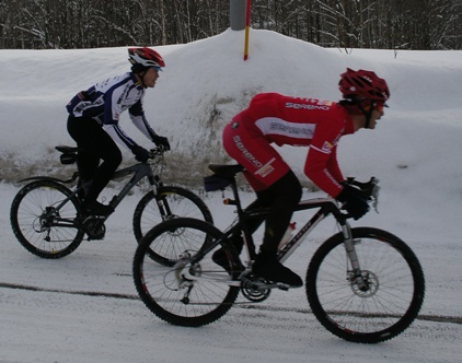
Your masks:
{"label": "red long-sleeve cycling jersey with a white side panel", "polygon": [[322,190],[336,197],[344,180],[337,162],[342,136],[353,133],[353,122],[335,102],[262,93],[239,114],[245,128],[261,132],[277,145],[310,147],[304,174]]}

